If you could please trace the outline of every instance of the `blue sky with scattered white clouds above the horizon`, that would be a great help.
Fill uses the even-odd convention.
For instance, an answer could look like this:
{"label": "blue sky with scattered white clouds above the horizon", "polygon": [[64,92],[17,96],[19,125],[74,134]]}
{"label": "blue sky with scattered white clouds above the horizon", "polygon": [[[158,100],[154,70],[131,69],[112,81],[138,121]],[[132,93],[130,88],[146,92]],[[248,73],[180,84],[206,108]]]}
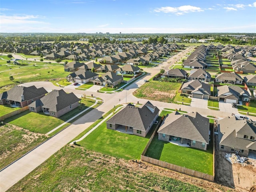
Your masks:
{"label": "blue sky with scattered white clouds above the horizon", "polygon": [[256,32],[256,0],[0,0],[0,32]]}

